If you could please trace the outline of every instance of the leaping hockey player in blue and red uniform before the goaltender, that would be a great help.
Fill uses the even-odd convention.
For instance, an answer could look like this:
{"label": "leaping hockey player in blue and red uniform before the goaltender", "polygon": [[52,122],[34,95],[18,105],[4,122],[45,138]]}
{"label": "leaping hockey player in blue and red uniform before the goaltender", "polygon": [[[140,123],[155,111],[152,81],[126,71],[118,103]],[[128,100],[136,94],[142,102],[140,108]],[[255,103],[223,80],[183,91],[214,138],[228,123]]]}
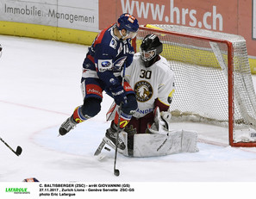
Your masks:
{"label": "leaping hockey player in blue and red uniform before the goaltender", "polygon": [[[137,109],[134,90],[124,81],[122,85],[122,67],[128,67],[134,58],[134,48],[130,41],[135,37],[139,23],[134,16],[122,14],[116,24],[97,35],[89,47],[83,64],[81,88],[84,103],[78,106],[71,117],[67,118],[59,127],[59,134],[67,134],[82,121],[97,115],[101,110],[103,90],[112,96],[117,105],[122,103],[120,113],[116,113],[115,120],[106,131],[106,138],[116,144],[118,118],[120,114],[120,128],[124,128]],[[118,147],[126,146],[121,139]]]}

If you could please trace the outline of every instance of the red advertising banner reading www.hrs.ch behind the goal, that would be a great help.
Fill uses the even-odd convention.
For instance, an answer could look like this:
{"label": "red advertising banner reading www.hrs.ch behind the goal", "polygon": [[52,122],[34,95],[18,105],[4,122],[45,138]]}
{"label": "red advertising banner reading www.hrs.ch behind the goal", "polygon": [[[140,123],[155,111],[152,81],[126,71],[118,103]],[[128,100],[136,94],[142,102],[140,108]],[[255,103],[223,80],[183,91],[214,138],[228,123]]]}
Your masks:
{"label": "red advertising banner reading www.hrs.ch behind the goal", "polygon": [[99,28],[105,28],[128,12],[140,24],[173,24],[240,34],[247,40],[248,54],[256,57],[255,10],[256,0],[99,0]]}

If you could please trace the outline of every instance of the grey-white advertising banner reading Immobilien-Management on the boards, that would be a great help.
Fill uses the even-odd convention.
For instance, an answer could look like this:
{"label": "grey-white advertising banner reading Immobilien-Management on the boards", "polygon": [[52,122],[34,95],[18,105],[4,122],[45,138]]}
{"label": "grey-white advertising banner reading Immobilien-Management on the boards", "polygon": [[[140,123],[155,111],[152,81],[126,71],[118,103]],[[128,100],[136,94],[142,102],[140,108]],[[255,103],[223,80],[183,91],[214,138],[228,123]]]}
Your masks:
{"label": "grey-white advertising banner reading Immobilien-Management on the boards", "polygon": [[1,0],[0,21],[98,31],[98,1]]}

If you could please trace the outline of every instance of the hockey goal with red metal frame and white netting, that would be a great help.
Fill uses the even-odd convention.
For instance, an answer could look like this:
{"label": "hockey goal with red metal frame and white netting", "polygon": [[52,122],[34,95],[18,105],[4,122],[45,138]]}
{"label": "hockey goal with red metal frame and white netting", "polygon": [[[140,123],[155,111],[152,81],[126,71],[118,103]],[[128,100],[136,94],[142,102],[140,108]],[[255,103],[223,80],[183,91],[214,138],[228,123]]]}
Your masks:
{"label": "hockey goal with red metal frame and white netting", "polygon": [[256,146],[256,96],[246,40],[176,25],[140,26],[133,46],[147,34],[163,43],[161,55],[175,74],[173,121],[200,121],[228,127],[230,146]]}

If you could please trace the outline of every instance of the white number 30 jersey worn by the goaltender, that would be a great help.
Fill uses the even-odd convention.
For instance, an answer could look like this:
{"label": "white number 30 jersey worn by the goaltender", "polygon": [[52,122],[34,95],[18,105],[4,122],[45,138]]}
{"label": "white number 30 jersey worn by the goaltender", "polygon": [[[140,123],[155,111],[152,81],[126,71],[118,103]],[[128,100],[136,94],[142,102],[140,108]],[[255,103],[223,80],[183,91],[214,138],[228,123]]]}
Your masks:
{"label": "white number 30 jersey worn by the goaltender", "polygon": [[126,69],[125,78],[134,89],[138,109],[134,117],[140,118],[154,109],[156,99],[170,106],[174,87],[174,73],[167,60],[159,55],[159,60],[150,67],[145,67],[140,53],[134,54],[132,64]]}

